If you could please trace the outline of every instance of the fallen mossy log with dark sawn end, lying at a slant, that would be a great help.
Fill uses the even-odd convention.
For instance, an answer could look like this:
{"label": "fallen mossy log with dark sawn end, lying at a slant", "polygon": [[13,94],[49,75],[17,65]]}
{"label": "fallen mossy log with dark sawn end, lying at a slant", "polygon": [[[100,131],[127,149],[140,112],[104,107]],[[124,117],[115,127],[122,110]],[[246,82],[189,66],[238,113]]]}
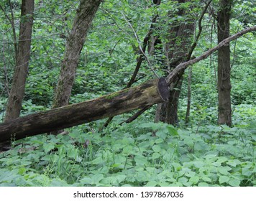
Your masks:
{"label": "fallen mossy log with dark sawn end, lying at a slant", "polygon": [[152,106],[167,100],[168,93],[165,78],[159,78],[83,103],[19,117],[0,124],[0,142],[69,128]]}

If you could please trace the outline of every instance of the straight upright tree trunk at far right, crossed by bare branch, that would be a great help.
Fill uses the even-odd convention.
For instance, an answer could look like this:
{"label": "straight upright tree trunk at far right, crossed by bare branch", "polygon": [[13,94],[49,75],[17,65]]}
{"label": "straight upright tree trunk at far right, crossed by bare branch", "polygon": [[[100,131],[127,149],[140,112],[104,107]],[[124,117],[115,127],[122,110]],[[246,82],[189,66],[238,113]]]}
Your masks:
{"label": "straight upright tree trunk at far right, crossed by bare branch", "polygon": [[[219,1],[218,13],[218,42],[229,37],[229,19],[231,13],[231,0]],[[229,44],[218,51],[218,123],[231,126],[231,83],[230,83],[230,50]]]}

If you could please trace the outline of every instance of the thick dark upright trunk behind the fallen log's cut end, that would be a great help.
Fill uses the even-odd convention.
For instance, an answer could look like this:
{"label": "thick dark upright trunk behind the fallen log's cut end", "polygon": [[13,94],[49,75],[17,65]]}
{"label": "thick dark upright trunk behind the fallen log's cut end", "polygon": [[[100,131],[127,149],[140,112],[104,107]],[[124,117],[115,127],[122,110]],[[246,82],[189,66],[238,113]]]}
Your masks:
{"label": "thick dark upright trunk behind the fallen log's cut end", "polygon": [[[180,4],[188,2],[190,0],[179,0]],[[178,15],[183,16],[186,11],[180,9]],[[188,54],[189,47],[191,45],[191,36],[193,34],[193,24],[180,24],[177,27],[170,29],[170,39],[168,45],[166,45],[168,52],[168,59],[170,60],[170,70],[173,70],[179,63],[185,62]],[[181,41],[181,42],[180,42]],[[171,50],[170,50],[171,48]],[[173,80],[170,87],[170,98],[165,103],[160,103],[157,106],[155,115],[155,121],[163,121],[165,123],[177,124],[178,123],[178,99],[180,97],[180,90],[183,83],[183,73],[180,71],[178,76]]]}

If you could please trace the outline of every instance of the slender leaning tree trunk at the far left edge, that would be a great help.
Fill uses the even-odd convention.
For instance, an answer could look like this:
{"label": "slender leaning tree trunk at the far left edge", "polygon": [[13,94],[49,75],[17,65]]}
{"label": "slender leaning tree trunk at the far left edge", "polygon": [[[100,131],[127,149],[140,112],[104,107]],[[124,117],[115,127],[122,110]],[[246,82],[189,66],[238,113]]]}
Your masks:
{"label": "slender leaning tree trunk at the far left edge", "polygon": [[16,67],[12,80],[12,89],[6,106],[4,121],[19,117],[22,109],[25,83],[29,67],[31,36],[33,26],[34,0],[22,0],[22,12],[19,27],[19,45],[16,55]]}

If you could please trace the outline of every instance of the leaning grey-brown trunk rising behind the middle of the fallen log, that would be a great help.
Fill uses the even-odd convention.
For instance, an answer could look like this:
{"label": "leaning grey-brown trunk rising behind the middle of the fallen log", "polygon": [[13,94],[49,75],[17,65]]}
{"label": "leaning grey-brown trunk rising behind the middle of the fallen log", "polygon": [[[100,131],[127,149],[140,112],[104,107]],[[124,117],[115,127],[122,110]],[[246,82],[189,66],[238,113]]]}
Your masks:
{"label": "leaning grey-brown trunk rising behind the middle of the fallen log", "polygon": [[60,77],[52,101],[52,108],[68,105],[76,67],[81,55],[86,34],[102,0],[81,0],[73,27],[66,42],[65,55],[61,65]]}

